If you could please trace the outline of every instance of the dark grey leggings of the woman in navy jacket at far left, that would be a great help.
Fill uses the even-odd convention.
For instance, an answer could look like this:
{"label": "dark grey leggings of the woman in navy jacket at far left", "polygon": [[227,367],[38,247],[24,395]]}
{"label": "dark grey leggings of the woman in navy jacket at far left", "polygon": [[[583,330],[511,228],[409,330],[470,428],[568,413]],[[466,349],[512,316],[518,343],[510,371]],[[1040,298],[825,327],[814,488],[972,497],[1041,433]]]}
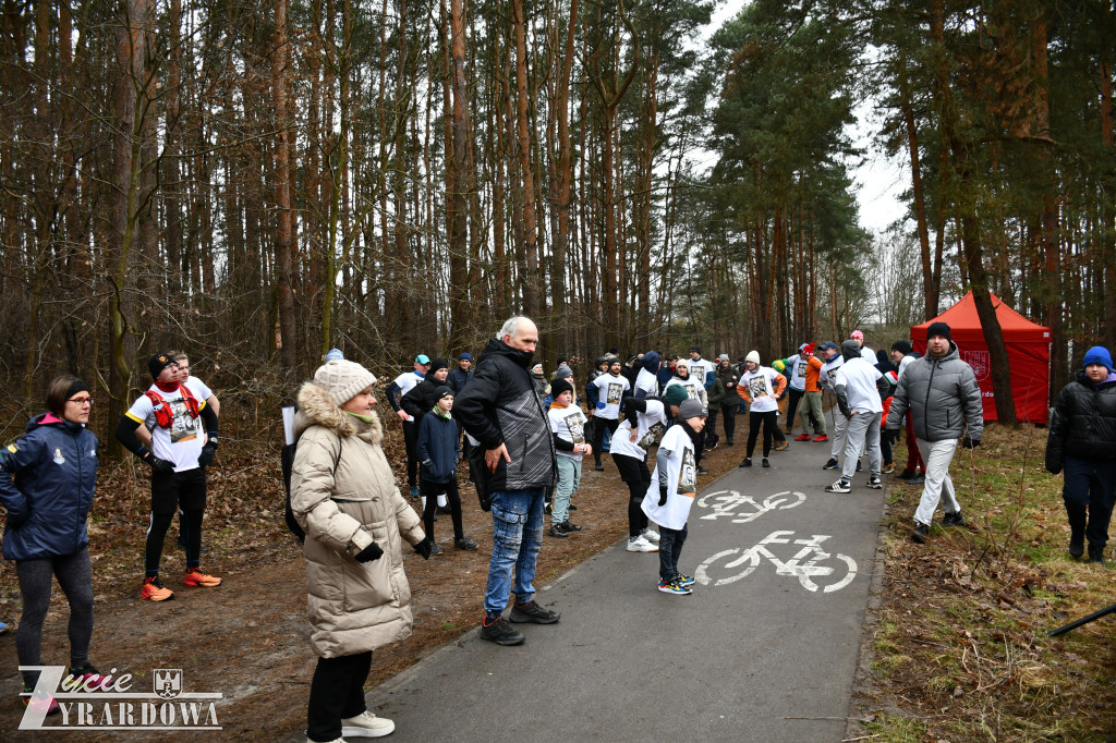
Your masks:
{"label": "dark grey leggings of the woman in navy jacket at far left", "polygon": [[[16,630],[16,654],[21,666],[42,665],[42,620],[50,606],[51,577],[58,578],[70,605],[68,626],[70,665],[89,662],[89,638],[93,637],[93,578],[89,572],[89,548],[83,546],[73,554],[38,560],[16,560],[23,615]],[[38,670],[23,673],[23,685],[33,687]]]}

